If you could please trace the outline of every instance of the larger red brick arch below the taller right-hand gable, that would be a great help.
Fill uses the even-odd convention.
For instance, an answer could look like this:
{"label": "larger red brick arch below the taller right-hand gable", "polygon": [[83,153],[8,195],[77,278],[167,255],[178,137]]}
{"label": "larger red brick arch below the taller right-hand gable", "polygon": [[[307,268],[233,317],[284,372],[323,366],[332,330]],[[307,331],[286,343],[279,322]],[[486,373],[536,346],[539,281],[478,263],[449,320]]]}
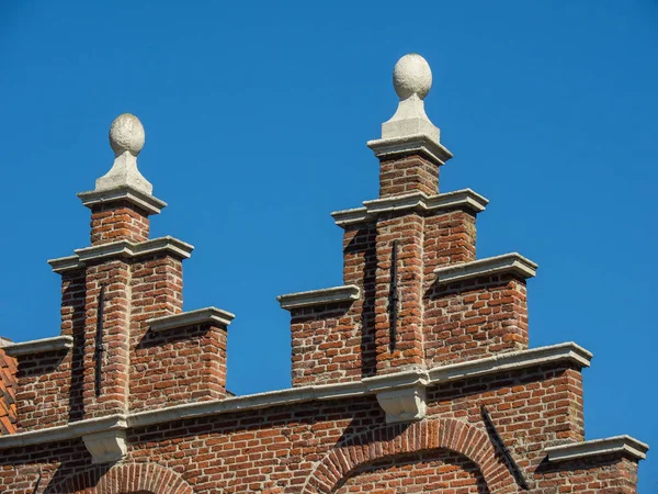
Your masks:
{"label": "larger red brick arch below the taller right-hand gable", "polygon": [[400,454],[450,449],[480,470],[490,492],[519,492],[514,478],[496,457],[485,430],[452,418],[385,426],[361,434],[330,450],[310,474],[303,494],[331,494],[359,467]]}

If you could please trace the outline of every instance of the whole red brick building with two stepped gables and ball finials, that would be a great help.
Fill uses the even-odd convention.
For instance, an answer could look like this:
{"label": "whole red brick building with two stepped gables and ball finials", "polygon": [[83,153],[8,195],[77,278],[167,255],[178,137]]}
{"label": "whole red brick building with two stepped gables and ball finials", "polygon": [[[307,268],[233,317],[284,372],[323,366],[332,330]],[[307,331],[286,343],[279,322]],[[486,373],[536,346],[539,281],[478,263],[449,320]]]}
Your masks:
{"label": "whole red brick building with two stepped gables and ball finials", "polygon": [[439,193],[451,157],[418,55],[367,143],[379,197],[332,214],[343,285],[279,297],[291,389],[226,390],[234,315],[183,312],[192,246],[149,238],[164,203],[137,169],[144,128],[110,130],[112,169],[78,194],[91,245],[49,261],[59,336],[0,343],[2,493],[634,493],[648,447],[585,440],[574,343],[529,348],[519,254],[476,258],[473,190]]}

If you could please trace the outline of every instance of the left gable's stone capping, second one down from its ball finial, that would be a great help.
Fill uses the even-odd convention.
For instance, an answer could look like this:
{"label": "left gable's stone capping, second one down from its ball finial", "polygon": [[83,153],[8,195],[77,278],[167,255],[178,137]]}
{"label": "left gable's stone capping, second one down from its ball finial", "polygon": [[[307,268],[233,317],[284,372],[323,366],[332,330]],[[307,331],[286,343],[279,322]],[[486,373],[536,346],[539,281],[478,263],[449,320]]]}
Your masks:
{"label": "left gable's stone capping, second one down from its ball finial", "polygon": [[107,258],[127,257],[136,258],[169,251],[183,259],[188,259],[194,247],[183,240],[170,236],[154,238],[146,242],[133,243],[129,240],[118,240],[111,244],[97,245],[76,249],[75,256],[49,259],[48,263],[55,272],[66,272],[72,269],[83,268],[87,262]]}

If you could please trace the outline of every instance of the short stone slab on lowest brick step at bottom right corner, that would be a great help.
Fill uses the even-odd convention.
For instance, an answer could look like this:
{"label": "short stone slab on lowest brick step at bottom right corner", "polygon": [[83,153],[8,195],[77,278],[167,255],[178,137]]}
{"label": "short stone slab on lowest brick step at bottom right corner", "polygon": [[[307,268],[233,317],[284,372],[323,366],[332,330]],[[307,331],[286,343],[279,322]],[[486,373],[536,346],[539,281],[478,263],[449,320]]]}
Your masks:
{"label": "short stone slab on lowest brick step at bottom right corner", "polygon": [[647,458],[648,450],[649,445],[624,435],[605,439],[551,446],[549,448],[545,448],[544,452],[547,453],[548,461],[556,463],[559,461],[588,459],[603,454],[627,454],[634,460],[644,460]]}

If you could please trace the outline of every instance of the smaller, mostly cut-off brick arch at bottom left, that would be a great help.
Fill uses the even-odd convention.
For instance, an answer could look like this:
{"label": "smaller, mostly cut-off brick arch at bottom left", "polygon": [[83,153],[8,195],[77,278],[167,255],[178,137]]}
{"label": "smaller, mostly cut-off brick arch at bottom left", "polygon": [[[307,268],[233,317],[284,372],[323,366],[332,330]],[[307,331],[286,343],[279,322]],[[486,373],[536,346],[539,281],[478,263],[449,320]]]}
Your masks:
{"label": "smaller, mostly cut-off brick arch at bottom left", "polygon": [[84,494],[194,494],[178,473],[157,463],[123,463],[110,470],[98,467],[49,486],[46,493]]}

